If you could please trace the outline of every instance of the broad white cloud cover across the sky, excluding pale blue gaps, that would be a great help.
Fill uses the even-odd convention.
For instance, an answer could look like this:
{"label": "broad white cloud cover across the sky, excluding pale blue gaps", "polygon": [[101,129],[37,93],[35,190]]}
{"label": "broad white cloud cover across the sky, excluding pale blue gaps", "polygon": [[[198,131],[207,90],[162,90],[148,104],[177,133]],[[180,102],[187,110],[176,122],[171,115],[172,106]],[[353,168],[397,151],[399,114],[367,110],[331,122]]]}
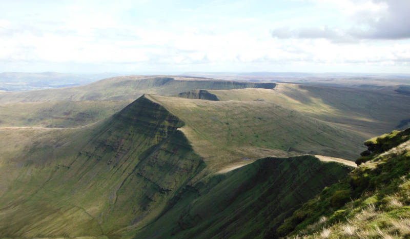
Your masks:
{"label": "broad white cloud cover across the sky, excluding pale blue gaps", "polygon": [[[326,5],[317,11],[336,8],[350,19],[352,27],[327,22],[295,28],[276,24],[278,27],[271,32],[269,27],[273,22],[257,13],[253,16],[202,13],[199,17],[197,9],[187,6],[190,11],[178,11],[188,14],[186,18],[151,17],[150,12],[149,16],[133,19],[119,17],[126,8],[110,5],[113,9],[100,10],[76,3],[61,14],[59,22],[44,16],[30,16],[25,21],[0,19],[0,67],[7,71],[4,66],[10,64],[60,63],[111,65],[118,71],[131,65],[153,67],[157,71],[164,67],[212,70],[224,66],[238,66],[241,71],[284,69],[282,66],[292,71],[301,71],[302,66],[316,66],[316,71],[329,66],[343,71],[358,66],[409,69],[410,44],[383,40],[407,37],[408,27],[403,24],[407,16],[400,12],[404,12],[398,8],[400,2],[315,0],[322,7]],[[138,6],[144,4],[152,3],[140,2]],[[287,23],[293,21],[288,20]],[[297,21],[298,26],[303,25],[303,17]],[[392,27],[393,23],[397,23],[396,28]],[[371,40],[374,38],[380,40],[375,43]]]}

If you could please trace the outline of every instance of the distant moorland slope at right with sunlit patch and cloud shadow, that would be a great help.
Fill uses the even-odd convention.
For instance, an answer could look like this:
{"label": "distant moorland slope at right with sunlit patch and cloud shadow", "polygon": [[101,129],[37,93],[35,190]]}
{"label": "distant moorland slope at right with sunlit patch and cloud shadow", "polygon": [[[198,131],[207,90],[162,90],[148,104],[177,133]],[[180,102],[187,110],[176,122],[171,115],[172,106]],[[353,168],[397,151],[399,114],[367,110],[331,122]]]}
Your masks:
{"label": "distant moorland slope at right with sunlit patch and cloud shadow", "polygon": [[[254,101],[263,98],[318,118],[364,137],[389,132],[410,115],[410,96],[394,91],[278,84],[275,90],[208,90],[221,101]],[[406,126],[407,125],[407,126]]]}

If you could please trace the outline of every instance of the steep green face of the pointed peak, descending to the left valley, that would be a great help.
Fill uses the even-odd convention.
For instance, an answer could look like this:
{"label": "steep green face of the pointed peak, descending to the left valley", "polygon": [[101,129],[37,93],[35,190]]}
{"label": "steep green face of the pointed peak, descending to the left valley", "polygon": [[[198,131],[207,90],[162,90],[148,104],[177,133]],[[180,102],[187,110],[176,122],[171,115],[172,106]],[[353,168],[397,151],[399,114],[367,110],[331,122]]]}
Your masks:
{"label": "steep green face of the pointed peak, descending to the left valley", "polygon": [[183,122],[145,97],[76,129],[1,128],[0,237],[144,225],[204,167]]}

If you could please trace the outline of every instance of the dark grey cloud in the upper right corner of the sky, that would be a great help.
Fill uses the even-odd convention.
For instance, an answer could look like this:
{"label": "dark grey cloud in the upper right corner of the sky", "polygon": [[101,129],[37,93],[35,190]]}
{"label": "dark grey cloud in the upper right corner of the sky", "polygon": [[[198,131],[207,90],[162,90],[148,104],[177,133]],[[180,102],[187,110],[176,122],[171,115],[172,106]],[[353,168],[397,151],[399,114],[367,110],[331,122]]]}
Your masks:
{"label": "dark grey cloud in the upper right corner of the sky", "polygon": [[[322,1],[320,1],[322,2]],[[327,1],[333,2],[333,1]],[[345,12],[352,26],[305,26],[291,29],[289,26],[271,30],[278,38],[324,38],[332,42],[353,42],[361,39],[410,38],[410,1],[372,0],[367,2],[340,0],[338,5]]]}

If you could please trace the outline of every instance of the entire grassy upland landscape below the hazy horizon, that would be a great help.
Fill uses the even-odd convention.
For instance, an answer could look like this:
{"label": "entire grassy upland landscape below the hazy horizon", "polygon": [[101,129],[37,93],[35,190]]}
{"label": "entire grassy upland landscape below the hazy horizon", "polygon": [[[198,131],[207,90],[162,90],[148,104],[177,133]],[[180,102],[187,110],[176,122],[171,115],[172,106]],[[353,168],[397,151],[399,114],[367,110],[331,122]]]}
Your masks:
{"label": "entire grassy upland landscape below the hazy horizon", "polygon": [[0,238],[406,236],[410,96],[378,82],[0,92]]}

